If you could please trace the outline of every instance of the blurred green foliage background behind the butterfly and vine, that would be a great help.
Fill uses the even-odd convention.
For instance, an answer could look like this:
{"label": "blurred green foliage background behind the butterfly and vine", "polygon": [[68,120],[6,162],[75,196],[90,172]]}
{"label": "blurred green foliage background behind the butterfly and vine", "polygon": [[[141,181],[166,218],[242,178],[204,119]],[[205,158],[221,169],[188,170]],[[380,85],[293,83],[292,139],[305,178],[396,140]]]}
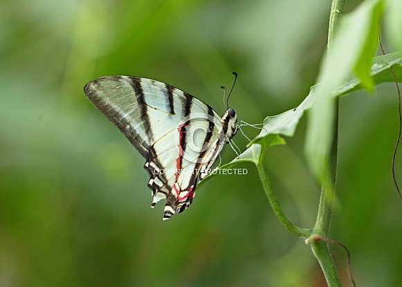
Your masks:
{"label": "blurred green foliage background behind the butterfly and vine", "polygon": [[[347,1],[352,10],[359,1]],[[86,82],[138,75],[241,120],[296,107],[325,53],[331,1],[2,1],[0,286],[326,286],[309,246],[277,222],[252,165],[214,176],[190,209],[162,221],[144,159],[86,99]],[[385,46],[386,42],[385,42]],[[388,50],[392,52],[392,50]],[[305,118],[268,151],[289,217],[313,226]],[[393,84],[340,100],[338,204],[331,238],[358,286],[402,286],[401,202],[392,181]],[[248,136],[259,131],[244,128]],[[239,135],[237,145],[247,140]],[[228,147],[223,163],[235,157]],[[400,181],[402,158],[397,157]],[[332,247],[345,286],[346,254]]]}

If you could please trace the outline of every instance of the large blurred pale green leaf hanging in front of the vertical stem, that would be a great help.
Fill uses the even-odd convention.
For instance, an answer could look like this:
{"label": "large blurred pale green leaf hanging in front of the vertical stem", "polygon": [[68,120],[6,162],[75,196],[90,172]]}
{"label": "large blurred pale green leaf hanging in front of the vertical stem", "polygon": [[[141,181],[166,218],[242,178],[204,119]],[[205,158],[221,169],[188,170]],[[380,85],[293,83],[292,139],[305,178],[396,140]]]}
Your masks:
{"label": "large blurred pale green leaf hanging in front of the vertical stem", "polygon": [[372,62],[372,27],[377,25],[382,7],[382,0],[366,1],[345,16],[329,57],[322,62],[317,81],[320,85],[315,92],[316,104],[311,109],[305,147],[310,169],[320,181],[323,163],[328,162],[334,138],[336,102],[333,92],[345,83],[351,71],[356,73],[365,88],[372,89],[372,80],[367,80],[369,66],[365,62]]}

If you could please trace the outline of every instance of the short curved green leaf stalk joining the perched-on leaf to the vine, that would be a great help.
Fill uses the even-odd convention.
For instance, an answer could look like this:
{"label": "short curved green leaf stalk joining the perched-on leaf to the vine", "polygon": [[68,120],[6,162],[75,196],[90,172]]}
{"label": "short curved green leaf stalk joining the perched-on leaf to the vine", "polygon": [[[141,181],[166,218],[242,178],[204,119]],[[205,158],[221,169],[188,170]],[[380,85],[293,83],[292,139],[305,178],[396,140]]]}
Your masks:
{"label": "short curved green leaf stalk joining the perched-on leaf to the vine", "polygon": [[[264,153],[262,153],[264,154]],[[309,237],[311,230],[305,228],[299,228],[298,226],[294,225],[284,214],[282,207],[280,206],[279,201],[275,194],[273,193],[271,181],[268,178],[266,173],[266,169],[264,167],[264,156],[261,156],[259,159],[259,163],[256,163],[259,178],[262,182],[262,187],[264,188],[264,192],[266,197],[268,198],[269,204],[271,205],[273,212],[277,216],[277,219],[280,223],[284,226],[284,228],[291,234],[297,237]]]}

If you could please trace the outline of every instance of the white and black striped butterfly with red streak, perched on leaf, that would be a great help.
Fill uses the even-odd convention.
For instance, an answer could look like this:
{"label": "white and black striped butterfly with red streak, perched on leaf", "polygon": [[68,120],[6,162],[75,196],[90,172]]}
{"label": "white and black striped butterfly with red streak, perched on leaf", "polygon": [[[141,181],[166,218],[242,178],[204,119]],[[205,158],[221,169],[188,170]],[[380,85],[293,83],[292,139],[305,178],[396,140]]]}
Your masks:
{"label": "white and black striped butterfly with red streak, perched on leaf", "polygon": [[197,180],[239,129],[235,110],[220,116],[189,93],[145,77],[99,77],[84,93],[145,158],[151,206],[166,200],[163,220],[190,207]]}

